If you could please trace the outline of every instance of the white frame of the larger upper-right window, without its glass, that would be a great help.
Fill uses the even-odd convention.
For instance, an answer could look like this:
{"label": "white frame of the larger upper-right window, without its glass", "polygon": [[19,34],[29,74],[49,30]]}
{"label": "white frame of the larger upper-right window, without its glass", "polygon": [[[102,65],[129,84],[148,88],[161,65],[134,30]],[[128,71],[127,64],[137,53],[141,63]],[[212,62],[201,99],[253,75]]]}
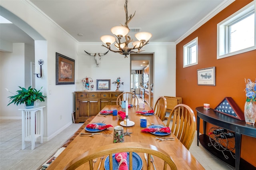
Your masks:
{"label": "white frame of the larger upper-right window, without its glass", "polygon": [[[217,59],[222,59],[225,57],[230,57],[236,54],[252,51],[256,49],[256,1],[253,1],[228,18],[222,20],[222,22],[217,24]],[[242,21],[244,18],[248,17],[250,13],[254,13],[254,46],[240,49],[238,51],[230,52],[230,25]]]}

